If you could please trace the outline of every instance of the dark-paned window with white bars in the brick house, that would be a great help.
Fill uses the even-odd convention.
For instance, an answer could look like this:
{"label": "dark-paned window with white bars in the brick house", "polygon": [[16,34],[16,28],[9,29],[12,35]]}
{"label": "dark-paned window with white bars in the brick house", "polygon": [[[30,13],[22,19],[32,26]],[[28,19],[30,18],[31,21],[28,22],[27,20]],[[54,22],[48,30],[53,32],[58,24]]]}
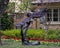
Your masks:
{"label": "dark-paned window with white bars in the brick house", "polygon": [[60,9],[48,9],[47,21],[59,22],[60,21]]}

